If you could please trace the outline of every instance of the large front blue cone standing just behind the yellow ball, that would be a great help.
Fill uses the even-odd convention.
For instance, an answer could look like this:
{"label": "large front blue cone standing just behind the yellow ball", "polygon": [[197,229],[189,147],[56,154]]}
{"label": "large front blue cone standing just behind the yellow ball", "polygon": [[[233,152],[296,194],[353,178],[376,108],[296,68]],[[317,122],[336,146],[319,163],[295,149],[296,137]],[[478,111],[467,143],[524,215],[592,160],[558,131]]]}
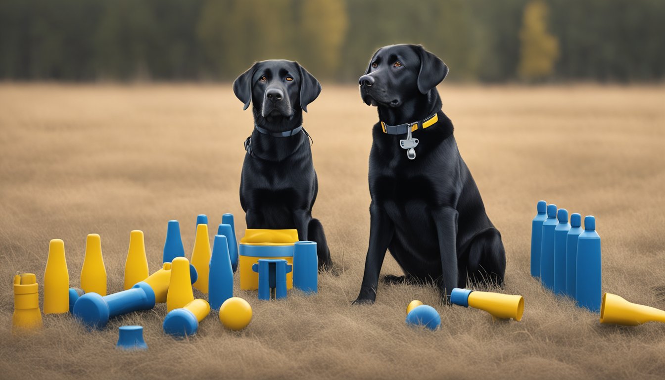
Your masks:
{"label": "large front blue cone standing just behind the yellow ball", "polygon": [[229,257],[226,236],[215,235],[215,242],[210,258],[208,280],[208,303],[213,310],[219,310],[221,304],[233,297],[233,269]]}

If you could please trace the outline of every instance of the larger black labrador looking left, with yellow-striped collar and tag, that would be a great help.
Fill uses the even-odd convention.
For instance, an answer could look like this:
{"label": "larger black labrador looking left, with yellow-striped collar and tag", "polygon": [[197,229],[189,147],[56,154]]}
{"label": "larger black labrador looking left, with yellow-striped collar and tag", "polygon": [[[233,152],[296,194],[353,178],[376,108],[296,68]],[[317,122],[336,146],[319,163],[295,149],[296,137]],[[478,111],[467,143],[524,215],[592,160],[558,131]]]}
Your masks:
{"label": "larger black labrador looking left, with yellow-striped collar and tag", "polygon": [[382,47],[360,77],[362,100],[378,108],[372,130],[370,240],[360,295],[373,303],[386,254],[405,276],[384,282],[436,282],[444,301],[471,282],[503,285],[505,250],[436,85],[448,67],[420,45]]}

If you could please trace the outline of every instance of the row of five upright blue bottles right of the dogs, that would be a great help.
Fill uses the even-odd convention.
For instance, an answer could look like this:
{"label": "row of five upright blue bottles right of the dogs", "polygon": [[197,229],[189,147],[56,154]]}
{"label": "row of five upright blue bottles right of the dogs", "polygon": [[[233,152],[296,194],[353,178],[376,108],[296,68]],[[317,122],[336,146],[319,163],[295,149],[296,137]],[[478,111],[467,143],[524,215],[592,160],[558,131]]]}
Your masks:
{"label": "row of five upright blue bottles right of the dogs", "polygon": [[541,200],[531,222],[531,276],[559,295],[574,298],[577,305],[600,311],[602,299],[600,236],[596,218],[572,214]]}

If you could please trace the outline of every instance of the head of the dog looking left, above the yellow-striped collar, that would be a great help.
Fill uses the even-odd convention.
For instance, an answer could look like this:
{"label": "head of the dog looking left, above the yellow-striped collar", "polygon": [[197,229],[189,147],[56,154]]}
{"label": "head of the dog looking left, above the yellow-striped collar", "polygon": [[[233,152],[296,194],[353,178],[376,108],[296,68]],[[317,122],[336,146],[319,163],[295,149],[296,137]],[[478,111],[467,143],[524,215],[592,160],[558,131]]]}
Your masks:
{"label": "head of the dog looking left, above the yellow-striped collar", "polygon": [[360,77],[360,96],[367,105],[399,108],[405,100],[428,94],[448,75],[448,66],[420,45],[378,49]]}

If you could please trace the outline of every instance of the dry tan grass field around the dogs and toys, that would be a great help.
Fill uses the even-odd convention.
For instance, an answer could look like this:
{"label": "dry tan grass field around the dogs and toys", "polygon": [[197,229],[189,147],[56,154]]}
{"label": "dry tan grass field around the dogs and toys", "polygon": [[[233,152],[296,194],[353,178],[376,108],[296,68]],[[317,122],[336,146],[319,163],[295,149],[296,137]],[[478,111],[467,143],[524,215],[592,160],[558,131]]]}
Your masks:
{"label": "dry tan grass field around the dogs and toys", "polygon": [[[238,188],[251,112],[230,85],[0,85],[0,377],[77,378],[636,378],[662,379],[665,325],[600,325],[529,276],[540,199],[597,217],[603,288],[665,309],[664,87],[440,87],[462,156],[507,252],[505,293],[525,298],[520,322],[444,307],[432,287],[380,285],[355,307],[367,248],[367,162],[376,110],[355,87],[323,85],[305,126],[314,139],[323,222],[338,276],[319,294],[258,301],[244,331],[212,313],[199,333],[162,333],[166,305],[88,332],[45,316],[37,335],[13,336],[11,280],[43,283],[49,240],[65,240],[78,286],[86,234],[102,236],[109,292],[122,287],[130,230],[146,234],[158,268],[166,222],[192,250],[197,214],[245,224]],[[386,256],[384,274],[399,274]],[[237,281],[236,281],[237,285]],[[40,289],[41,291],[41,289]],[[434,305],[442,328],[407,327],[412,299]],[[114,349],[118,326],[145,327],[150,349]]]}

